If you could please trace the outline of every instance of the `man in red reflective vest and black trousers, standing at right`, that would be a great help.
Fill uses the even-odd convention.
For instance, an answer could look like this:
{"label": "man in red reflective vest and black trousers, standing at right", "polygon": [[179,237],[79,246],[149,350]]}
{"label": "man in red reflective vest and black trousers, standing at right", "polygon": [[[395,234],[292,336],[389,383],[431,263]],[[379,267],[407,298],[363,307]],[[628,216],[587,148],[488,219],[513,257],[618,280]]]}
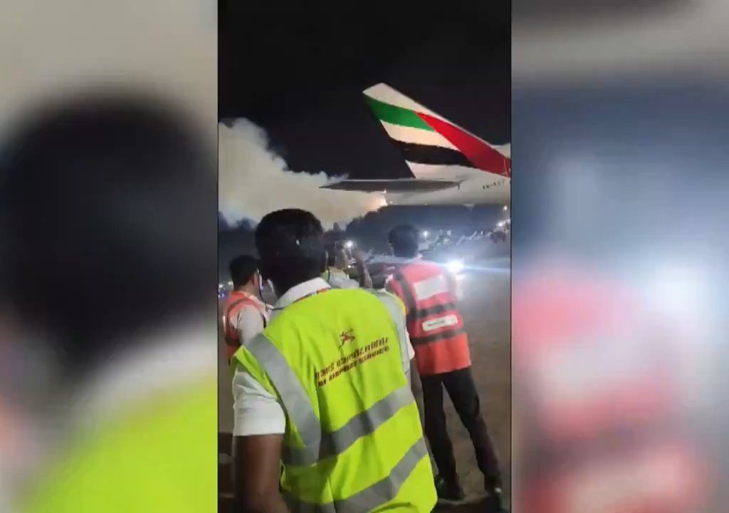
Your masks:
{"label": "man in red reflective vest and black trousers, standing at right", "polygon": [[387,288],[402,298],[408,311],[408,332],[423,386],[425,432],[438,466],[438,497],[446,503],[464,499],[445,425],[445,386],[471,436],[478,468],[486,478],[488,506],[491,511],[500,511],[499,462],[480,412],[467,334],[456,308],[455,284],[441,266],[416,260],[419,240],[420,231],[410,225],[399,225],[390,231],[388,242],[395,256],[408,261],[394,271]]}

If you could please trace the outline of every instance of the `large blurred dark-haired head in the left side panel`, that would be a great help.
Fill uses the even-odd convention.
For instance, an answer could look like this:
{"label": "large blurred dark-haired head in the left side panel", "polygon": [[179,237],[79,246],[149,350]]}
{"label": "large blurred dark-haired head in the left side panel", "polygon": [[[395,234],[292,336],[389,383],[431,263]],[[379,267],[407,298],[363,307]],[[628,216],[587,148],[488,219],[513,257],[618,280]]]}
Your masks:
{"label": "large blurred dark-haired head in the left side panel", "polygon": [[66,376],[201,309],[216,177],[184,116],[99,93],[12,128],[0,144],[0,294]]}

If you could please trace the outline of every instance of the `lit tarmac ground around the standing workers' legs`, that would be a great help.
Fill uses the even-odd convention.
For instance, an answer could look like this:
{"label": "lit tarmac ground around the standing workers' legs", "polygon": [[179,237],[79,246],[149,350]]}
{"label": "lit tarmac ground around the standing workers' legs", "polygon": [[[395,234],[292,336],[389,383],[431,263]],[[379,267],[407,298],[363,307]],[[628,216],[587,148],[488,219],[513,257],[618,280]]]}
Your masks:
{"label": "lit tarmac ground around the standing workers' legs", "polygon": [[[464,316],[471,346],[472,370],[480,393],[483,416],[499,452],[504,476],[504,498],[511,498],[511,276],[506,258],[486,258],[482,270],[464,273],[461,279],[461,312]],[[227,364],[220,342],[219,371],[219,431],[233,431],[233,410]],[[447,394],[445,395],[447,397]],[[461,425],[453,405],[446,399],[448,431],[458,462],[461,485],[467,495],[477,497],[483,493],[483,476],[478,471],[468,433]],[[221,439],[227,437],[222,434]],[[222,442],[226,444],[225,441]],[[224,465],[223,467],[225,467]],[[221,468],[221,487],[225,489],[227,468]],[[227,474],[229,476],[229,474]],[[222,501],[221,506],[223,506]],[[224,511],[221,507],[220,511]],[[437,508],[437,512],[483,513],[483,502],[458,508]]]}

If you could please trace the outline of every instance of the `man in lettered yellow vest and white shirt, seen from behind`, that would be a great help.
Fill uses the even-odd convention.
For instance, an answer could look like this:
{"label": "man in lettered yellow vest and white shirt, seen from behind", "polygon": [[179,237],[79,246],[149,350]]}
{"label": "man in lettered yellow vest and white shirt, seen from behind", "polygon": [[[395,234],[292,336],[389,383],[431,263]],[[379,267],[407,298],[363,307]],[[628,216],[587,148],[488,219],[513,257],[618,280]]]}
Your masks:
{"label": "man in lettered yellow vest and white shirt, seen from behind", "polygon": [[330,288],[322,236],[319,220],[297,209],[256,229],[278,302],[233,356],[242,502],[250,513],[429,513],[436,493],[404,306],[387,293]]}

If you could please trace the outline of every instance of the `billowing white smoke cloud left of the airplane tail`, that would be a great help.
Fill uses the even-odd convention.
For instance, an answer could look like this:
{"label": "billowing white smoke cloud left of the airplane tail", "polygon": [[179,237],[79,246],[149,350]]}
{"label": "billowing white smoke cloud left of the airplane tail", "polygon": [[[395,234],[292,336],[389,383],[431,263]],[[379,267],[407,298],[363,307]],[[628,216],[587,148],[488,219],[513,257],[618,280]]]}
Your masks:
{"label": "billowing white smoke cloud left of the airplane tail", "polygon": [[324,228],[348,223],[383,206],[381,194],[320,189],[327,174],[295,173],[269,149],[268,135],[249,120],[219,124],[219,210],[229,224],[261,218],[276,209],[299,208]]}

